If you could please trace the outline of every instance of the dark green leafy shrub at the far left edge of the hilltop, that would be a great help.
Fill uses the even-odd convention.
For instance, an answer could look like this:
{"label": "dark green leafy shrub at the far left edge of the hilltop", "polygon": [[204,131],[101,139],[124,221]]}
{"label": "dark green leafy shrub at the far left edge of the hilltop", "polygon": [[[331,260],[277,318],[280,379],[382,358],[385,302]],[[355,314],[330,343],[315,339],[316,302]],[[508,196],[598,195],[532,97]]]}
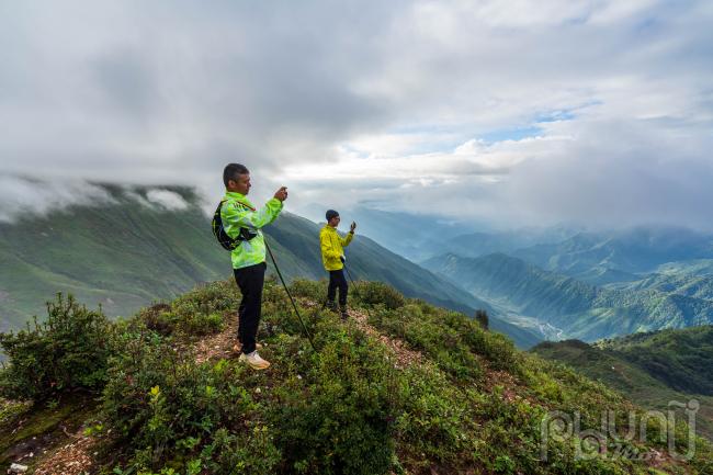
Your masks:
{"label": "dark green leafy shrub at the far left edge of the hilltop", "polygon": [[0,333],[9,365],[0,372],[0,395],[46,399],[76,388],[101,389],[106,381],[111,324],[99,310],[69,295],[47,303],[47,321],[18,333]]}

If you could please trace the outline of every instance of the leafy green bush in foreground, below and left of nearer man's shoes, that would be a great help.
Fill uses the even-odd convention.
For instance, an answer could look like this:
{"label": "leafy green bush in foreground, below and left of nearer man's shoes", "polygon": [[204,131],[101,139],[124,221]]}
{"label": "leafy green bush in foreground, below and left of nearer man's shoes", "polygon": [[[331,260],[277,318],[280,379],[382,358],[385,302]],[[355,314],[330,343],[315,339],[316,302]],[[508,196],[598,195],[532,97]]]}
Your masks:
{"label": "leafy green bush in foreground, below and left of nearer man's shoes", "polygon": [[170,339],[135,321],[116,336],[103,412],[129,453],[129,470],[273,473],[280,453],[257,416],[260,403],[240,384],[245,365],[195,363]]}

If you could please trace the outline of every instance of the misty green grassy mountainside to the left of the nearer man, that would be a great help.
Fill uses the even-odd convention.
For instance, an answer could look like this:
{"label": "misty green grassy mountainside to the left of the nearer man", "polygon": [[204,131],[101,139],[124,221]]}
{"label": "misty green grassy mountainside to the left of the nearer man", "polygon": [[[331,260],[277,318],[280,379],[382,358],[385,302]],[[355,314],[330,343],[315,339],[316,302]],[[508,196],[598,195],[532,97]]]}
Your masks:
{"label": "misty green grassy mountainside to the left of the nearer man", "polygon": [[0,261],[8,265],[0,274],[2,320],[18,327],[42,316],[43,302],[59,291],[102,304],[109,315],[131,315],[151,299],[225,276],[223,256],[206,246],[206,229],[199,227],[206,218],[197,207],[162,212],[110,190],[114,205],[0,225]]}

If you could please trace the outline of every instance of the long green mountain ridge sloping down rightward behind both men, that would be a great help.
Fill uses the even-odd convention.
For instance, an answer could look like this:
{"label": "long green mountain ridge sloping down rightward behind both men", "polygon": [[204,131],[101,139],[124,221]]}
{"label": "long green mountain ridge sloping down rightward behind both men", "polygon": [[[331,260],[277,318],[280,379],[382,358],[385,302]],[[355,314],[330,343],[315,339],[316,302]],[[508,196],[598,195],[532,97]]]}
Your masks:
{"label": "long green mountain ridge sloping down rightward behind both men", "polygon": [[[102,185],[110,202],[76,205],[43,216],[0,223],[0,330],[45,314],[44,302],[70,292],[107,315],[131,315],[196,283],[230,275],[228,253],[214,240],[210,217],[191,189],[161,186],[181,206],[149,201],[152,188]],[[287,279],[325,276],[319,226],[283,213],[265,228]],[[491,326],[529,348],[540,338],[497,318],[493,308],[446,279],[359,236],[347,249],[354,279],[386,282],[404,294],[472,315],[491,313]]]}

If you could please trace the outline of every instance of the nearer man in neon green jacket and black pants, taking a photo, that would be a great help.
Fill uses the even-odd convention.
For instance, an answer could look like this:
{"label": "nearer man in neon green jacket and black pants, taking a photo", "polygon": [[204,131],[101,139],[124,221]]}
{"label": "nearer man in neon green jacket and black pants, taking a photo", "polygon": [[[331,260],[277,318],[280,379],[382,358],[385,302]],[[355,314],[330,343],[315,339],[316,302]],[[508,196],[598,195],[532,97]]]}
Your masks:
{"label": "nearer man in neon green jacket and black pants, taking a photo", "polygon": [[265,205],[257,210],[247,197],[252,184],[250,172],[239,163],[229,163],[223,170],[226,188],[220,219],[225,233],[236,238],[242,233],[246,240],[230,252],[233,273],[240,289],[242,299],[238,308],[238,340],[241,344],[240,361],[256,370],[264,370],[270,363],[257,351],[256,336],[260,325],[262,286],[264,284],[265,244],[260,228],[269,225],[282,211],[287,199],[287,189],[282,186]]}

